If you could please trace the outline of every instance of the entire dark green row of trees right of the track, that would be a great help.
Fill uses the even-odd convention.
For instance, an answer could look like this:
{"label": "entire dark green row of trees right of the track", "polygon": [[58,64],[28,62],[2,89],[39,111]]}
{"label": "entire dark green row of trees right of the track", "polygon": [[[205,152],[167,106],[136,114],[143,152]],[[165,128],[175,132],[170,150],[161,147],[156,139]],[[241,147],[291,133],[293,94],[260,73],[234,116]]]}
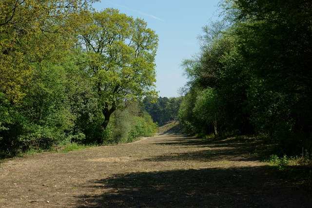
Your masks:
{"label": "entire dark green row of trees right of the track", "polygon": [[276,153],[312,152],[312,1],[222,1],[183,63],[188,132],[256,134]]}

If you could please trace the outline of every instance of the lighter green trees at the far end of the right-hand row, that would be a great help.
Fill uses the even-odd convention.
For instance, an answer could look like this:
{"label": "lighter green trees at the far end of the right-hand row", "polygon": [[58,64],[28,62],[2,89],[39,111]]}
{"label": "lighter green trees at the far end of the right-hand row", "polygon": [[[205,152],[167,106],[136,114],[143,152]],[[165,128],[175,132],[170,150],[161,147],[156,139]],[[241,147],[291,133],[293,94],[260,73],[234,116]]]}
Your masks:
{"label": "lighter green trees at the far end of the right-hand row", "polygon": [[[206,27],[204,31],[210,30]],[[189,90],[180,109],[182,125],[201,134],[251,132],[248,115],[244,113],[246,76],[237,64],[235,38],[225,31],[212,31],[214,34],[204,36],[217,38],[207,40],[200,57],[183,63],[185,74],[191,80],[187,83]],[[203,124],[205,128],[202,128]]]}

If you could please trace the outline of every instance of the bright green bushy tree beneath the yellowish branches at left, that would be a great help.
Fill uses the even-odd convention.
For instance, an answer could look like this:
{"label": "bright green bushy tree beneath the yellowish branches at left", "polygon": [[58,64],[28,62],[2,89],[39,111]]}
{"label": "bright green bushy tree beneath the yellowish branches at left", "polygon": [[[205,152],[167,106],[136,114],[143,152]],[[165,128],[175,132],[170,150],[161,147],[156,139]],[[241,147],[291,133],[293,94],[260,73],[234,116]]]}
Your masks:
{"label": "bright green bushy tree beneath the yellowish branches at left", "polygon": [[[61,143],[74,126],[75,114],[66,93],[67,74],[61,65],[36,64],[36,76],[26,86],[19,106],[11,104],[10,122],[2,134],[4,150],[18,154],[29,149],[49,149]],[[13,111],[14,109],[14,111]]]}

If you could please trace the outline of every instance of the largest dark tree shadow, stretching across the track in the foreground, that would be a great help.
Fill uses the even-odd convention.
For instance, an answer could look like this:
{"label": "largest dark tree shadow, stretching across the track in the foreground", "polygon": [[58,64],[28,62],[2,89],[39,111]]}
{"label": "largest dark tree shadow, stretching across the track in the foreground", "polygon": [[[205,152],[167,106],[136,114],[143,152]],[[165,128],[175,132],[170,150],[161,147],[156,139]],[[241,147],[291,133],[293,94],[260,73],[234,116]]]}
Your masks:
{"label": "largest dark tree shadow, stretching across the track in the foreground", "polygon": [[115,174],[77,196],[88,207],[312,207],[312,197],[268,176],[271,166]]}

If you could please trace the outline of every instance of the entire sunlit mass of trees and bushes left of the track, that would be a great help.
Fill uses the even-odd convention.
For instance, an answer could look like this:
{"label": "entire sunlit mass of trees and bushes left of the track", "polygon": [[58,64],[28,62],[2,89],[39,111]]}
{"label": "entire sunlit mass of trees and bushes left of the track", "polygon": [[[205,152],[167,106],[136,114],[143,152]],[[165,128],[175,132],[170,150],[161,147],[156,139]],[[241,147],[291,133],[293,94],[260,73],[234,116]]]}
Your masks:
{"label": "entire sunlit mass of trees and bushes left of the track", "polygon": [[[116,109],[156,95],[157,36],[141,19],[93,12],[92,2],[0,2],[0,157],[154,131],[132,112],[115,116],[124,135],[107,125]],[[132,123],[123,122],[128,117]]]}

